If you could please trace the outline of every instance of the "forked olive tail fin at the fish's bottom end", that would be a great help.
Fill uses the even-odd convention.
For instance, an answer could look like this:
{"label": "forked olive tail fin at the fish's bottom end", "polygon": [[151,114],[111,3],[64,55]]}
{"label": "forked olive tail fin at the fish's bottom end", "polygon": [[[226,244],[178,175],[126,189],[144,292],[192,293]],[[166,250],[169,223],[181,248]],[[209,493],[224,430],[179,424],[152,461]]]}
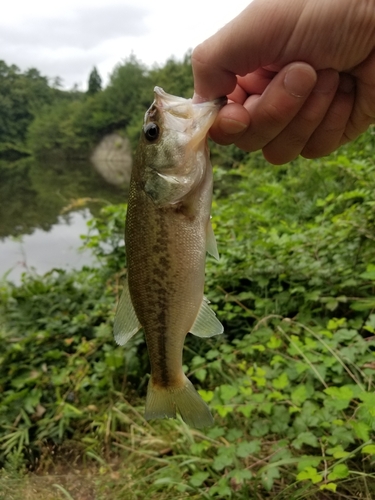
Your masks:
{"label": "forked olive tail fin at the fish's bottom end", "polygon": [[209,427],[214,423],[206,403],[190,380],[185,375],[183,377],[183,385],[165,388],[155,385],[151,376],[146,397],[146,420],[176,418],[177,410],[191,427]]}

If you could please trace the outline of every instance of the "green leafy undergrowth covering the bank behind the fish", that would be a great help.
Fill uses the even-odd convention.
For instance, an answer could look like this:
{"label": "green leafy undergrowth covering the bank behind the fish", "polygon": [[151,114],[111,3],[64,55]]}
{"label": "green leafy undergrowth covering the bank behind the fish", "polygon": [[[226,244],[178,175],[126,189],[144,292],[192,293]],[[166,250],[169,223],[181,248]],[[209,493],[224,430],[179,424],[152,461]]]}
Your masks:
{"label": "green leafy undergrowth covering the bank behind the fish", "polygon": [[0,498],[15,463],[67,442],[100,464],[98,499],[374,498],[372,134],[282,167],[214,148],[206,294],[225,334],[184,351],[214,412],[205,432],[145,422],[143,337],[114,344],[125,205],[90,221],[97,268],[3,283]]}

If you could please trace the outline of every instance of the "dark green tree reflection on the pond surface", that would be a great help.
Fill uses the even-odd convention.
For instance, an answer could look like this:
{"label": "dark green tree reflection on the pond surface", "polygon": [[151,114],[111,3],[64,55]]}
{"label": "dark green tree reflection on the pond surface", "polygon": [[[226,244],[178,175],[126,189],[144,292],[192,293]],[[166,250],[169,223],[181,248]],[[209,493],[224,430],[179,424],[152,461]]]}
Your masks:
{"label": "dark green tree reflection on the pond surface", "polygon": [[[1,162],[0,239],[31,234],[37,228],[48,231],[72,200],[121,203],[126,195],[125,188],[107,184],[89,162]],[[100,204],[89,204],[89,209],[98,214]]]}

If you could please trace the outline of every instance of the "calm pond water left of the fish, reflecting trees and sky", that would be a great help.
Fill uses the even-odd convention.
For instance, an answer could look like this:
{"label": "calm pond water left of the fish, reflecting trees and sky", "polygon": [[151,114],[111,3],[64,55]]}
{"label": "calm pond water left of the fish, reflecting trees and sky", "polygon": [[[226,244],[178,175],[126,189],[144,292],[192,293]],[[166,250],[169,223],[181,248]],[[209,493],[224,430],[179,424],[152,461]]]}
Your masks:
{"label": "calm pond water left of the fish, reflecting trees and sky", "polygon": [[17,284],[23,272],[94,264],[79,250],[87,221],[127,199],[127,185],[116,181],[124,176],[108,170],[98,173],[89,162],[0,162],[0,279]]}

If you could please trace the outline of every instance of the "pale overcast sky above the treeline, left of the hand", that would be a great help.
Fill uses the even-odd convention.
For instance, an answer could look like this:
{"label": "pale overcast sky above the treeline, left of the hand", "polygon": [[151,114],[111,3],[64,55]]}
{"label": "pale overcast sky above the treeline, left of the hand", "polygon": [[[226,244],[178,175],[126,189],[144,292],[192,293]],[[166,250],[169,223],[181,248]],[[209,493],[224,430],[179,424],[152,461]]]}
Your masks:
{"label": "pale overcast sky above the treeline, left of the hand", "polygon": [[132,53],[145,63],[181,59],[250,0],[10,0],[1,9],[0,59],[82,90],[93,66],[104,81]]}

